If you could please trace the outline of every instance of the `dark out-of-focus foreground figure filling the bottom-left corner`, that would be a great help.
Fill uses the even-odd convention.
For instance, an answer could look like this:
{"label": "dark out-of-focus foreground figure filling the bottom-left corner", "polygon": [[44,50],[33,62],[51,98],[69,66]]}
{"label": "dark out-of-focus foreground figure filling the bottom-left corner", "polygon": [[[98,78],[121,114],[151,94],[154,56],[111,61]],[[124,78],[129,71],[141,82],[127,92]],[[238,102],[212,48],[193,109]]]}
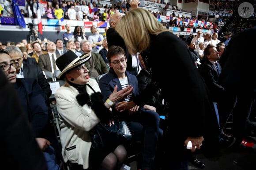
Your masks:
{"label": "dark out-of-focus foreground figure filling the bottom-left corner", "polygon": [[[2,154],[1,164],[19,165],[16,170],[47,170],[46,162],[34,132],[21,107],[19,98],[13,86],[8,83],[0,66],[0,108],[1,132],[0,144]],[[14,107],[15,106],[15,107]],[[11,132],[11,133],[10,133]],[[24,137],[26,136],[26,137]],[[19,156],[18,156],[19,155]]]}

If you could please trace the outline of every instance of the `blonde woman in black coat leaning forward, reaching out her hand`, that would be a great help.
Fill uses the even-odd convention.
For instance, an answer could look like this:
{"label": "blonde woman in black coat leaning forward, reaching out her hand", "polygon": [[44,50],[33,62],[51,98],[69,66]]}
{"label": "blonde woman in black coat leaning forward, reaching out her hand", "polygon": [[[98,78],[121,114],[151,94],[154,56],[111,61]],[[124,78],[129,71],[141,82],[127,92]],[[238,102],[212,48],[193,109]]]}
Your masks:
{"label": "blonde woman in black coat leaning forward, reaching out her hand", "polygon": [[[135,105],[143,106],[161,88],[167,108],[163,169],[187,170],[188,158],[200,149],[205,130],[211,135],[219,133],[212,102],[207,97],[188,47],[143,8],[133,8],[125,14],[116,31],[131,54],[140,53],[139,57],[142,57],[152,79],[133,101],[122,101],[116,109],[123,111]],[[167,83],[168,79],[171,83]],[[191,150],[186,148],[188,141],[192,141]]]}

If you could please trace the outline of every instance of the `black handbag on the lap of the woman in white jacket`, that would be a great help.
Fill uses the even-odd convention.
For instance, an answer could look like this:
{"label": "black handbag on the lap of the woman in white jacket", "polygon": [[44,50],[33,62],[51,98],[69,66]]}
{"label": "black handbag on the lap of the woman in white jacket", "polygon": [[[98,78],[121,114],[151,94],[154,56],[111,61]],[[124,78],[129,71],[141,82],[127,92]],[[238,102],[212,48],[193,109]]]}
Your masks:
{"label": "black handbag on the lap of the woman in white jacket", "polygon": [[98,123],[90,132],[93,148],[106,148],[117,146],[132,139],[132,133],[127,124],[119,119],[114,119],[114,125]]}

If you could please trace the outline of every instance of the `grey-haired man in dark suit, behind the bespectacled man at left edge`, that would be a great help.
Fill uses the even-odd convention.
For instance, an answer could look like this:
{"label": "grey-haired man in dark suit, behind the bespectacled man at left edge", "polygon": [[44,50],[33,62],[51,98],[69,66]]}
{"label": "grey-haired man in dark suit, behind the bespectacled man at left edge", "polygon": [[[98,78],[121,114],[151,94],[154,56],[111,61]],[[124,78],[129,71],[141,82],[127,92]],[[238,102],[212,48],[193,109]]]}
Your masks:
{"label": "grey-haired man in dark suit, behind the bespectacled man at left edge", "polygon": [[23,56],[20,49],[14,45],[8,46],[6,51],[11,56],[11,59],[14,62],[19,62],[19,67],[17,68],[17,77],[18,78],[34,78],[38,81],[38,84],[45,92],[46,98],[49,98],[52,94],[52,90],[48,81],[45,78],[42,70],[39,68],[38,65],[29,65],[23,64]]}

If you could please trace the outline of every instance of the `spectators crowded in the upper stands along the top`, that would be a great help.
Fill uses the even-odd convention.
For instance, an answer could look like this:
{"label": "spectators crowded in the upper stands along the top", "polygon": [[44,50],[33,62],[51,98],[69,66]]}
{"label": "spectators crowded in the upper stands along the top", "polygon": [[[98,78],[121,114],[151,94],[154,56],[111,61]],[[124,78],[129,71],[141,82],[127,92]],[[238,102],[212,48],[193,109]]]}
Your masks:
{"label": "spectators crowded in the upper stands along the top", "polygon": [[[8,1],[6,1],[8,2]],[[43,4],[38,1],[39,9],[41,10],[41,18],[47,18],[47,19],[70,19],[70,20],[77,20],[77,21],[94,21],[94,22],[109,22],[110,16],[115,12],[119,11],[121,14],[125,14],[130,10],[130,0],[127,0],[127,2],[124,1],[117,1],[117,3],[113,4],[106,4],[106,3],[100,3],[100,0],[98,0],[98,3],[95,1],[92,1],[92,3],[88,0],[86,1],[49,1],[47,2],[46,7],[43,6]],[[221,25],[216,25],[217,28],[213,28],[214,24],[207,24],[205,25],[204,22],[210,22],[209,19],[206,18],[196,18],[196,17],[188,17],[188,16],[179,16],[179,14],[175,14],[175,11],[184,11],[180,7],[177,7],[176,5],[171,5],[166,2],[160,2],[159,0],[157,3],[166,4],[165,7],[159,6],[159,11],[151,11],[149,10],[156,18],[160,18],[160,16],[166,16],[166,10],[173,10],[173,13],[170,14],[169,20],[166,19],[166,22],[162,22],[162,25],[164,26],[171,26],[171,27],[180,27],[181,31],[184,31],[184,28],[193,28],[194,26],[198,29],[214,29],[215,31],[218,31],[220,29]],[[11,5],[11,4],[10,4]],[[30,17],[30,18],[37,18],[37,9],[36,9],[37,2],[36,0],[28,1],[27,0],[27,7],[25,11],[21,9],[22,14],[24,17]],[[145,4],[146,6],[148,4]],[[4,5],[4,12],[3,16],[13,16],[12,8],[7,7]],[[101,10],[102,9],[102,10]],[[103,10],[105,9],[105,10]],[[9,12],[8,12],[9,11]],[[162,11],[162,12],[161,12]],[[223,11],[212,11],[210,15],[220,14],[221,16],[226,16],[226,14],[222,14]],[[226,11],[225,11],[226,13]],[[227,16],[232,15],[232,10],[230,11],[230,14]],[[199,24],[195,25],[194,21],[199,21]],[[192,22],[193,21],[193,22]],[[222,21],[222,20],[221,20]],[[198,22],[196,22],[198,23]],[[200,23],[203,23],[202,25]]]}

